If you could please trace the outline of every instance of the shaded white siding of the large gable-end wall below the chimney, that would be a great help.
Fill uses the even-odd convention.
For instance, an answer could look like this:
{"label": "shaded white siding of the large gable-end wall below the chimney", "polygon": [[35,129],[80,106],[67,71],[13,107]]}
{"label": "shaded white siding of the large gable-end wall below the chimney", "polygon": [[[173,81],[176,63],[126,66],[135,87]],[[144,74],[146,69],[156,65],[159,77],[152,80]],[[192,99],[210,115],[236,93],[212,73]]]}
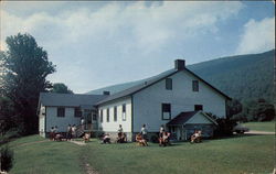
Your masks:
{"label": "shaded white siding of the large gable-end wall below the chimney", "polygon": [[134,95],[134,131],[146,123],[150,132],[157,132],[161,120],[161,104],[171,104],[171,119],[182,111],[193,111],[194,105],[203,105],[203,111],[225,117],[225,98],[199,80],[199,91],[192,91],[197,78],[187,70],[172,76],[172,90],[166,89],[166,79]]}

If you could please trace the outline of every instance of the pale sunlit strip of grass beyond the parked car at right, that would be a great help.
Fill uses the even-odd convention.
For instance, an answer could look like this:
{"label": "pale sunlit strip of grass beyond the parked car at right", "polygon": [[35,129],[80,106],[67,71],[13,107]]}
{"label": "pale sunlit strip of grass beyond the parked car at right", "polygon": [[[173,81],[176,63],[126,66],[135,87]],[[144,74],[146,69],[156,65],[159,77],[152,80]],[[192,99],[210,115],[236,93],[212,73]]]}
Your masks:
{"label": "pale sunlit strip of grass beyond the parked car at right", "polygon": [[276,123],[275,121],[246,122],[243,123],[243,126],[250,128],[251,130],[275,132],[275,123]]}

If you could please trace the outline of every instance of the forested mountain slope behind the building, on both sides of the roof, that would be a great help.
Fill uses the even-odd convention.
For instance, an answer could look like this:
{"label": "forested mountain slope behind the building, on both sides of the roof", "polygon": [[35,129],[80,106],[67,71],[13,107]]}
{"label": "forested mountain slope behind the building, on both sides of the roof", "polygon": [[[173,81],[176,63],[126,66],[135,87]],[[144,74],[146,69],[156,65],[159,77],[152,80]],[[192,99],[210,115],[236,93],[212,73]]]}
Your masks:
{"label": "forested mountain slope behind the building, on both sides of the roof", "polygon": [[[232,98],[272,100],[274,58],[275,50],[261,54],[237,55],[202,62],[189,65],[188,68]],[[87,94],[102,94],[103,90],[114,94],[148,79],[118,84]]]}

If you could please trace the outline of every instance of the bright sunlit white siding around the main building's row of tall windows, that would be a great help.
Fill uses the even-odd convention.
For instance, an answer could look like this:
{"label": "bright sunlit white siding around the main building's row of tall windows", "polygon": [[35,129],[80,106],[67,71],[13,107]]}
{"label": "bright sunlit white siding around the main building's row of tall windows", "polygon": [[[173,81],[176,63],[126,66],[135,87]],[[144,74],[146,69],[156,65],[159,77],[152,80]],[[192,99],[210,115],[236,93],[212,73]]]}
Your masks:
{"label": "bright sunlit white siding around the main building's row of tall windows", "polygon": [[[126,105],[126,120],[123,120],[123,105]],[[114,107],[117,106],[117,121],[114,121]],[[109,122],[106,121],[106,110],[109,108]],[[103,109],[103,122],[100,110]],[[98,127],[103,131],[116,132],[121,124],[124,132],[131,132],[131,97],[117,99],[98,107]]]}

